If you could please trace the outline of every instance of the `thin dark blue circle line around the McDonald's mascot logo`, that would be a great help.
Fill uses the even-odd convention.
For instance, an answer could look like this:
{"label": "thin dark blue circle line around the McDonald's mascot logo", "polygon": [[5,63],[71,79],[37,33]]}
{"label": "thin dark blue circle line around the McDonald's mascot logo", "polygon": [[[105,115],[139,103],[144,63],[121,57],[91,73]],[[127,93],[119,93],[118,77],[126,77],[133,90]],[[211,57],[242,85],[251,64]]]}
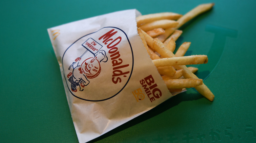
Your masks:
{"label": "thin dark blue circle line around the McDonald's mascot logo", "polygon": [[[109,97],[109,98],[106,98],[106,99],[102,99],[102,100],[88,100],[88,99],[83,99],[83,98],[77,97],[77,96],[75,96],[75,95],[70,91],[70,89],[69,89],[69,87],[68,87],[67,79],[66,79],[65,73],[64,73],[64,71],[65,71],[65,70],[64,70],[64,66],[62,66],[64,78],[65,78],[65,80],[66,80],[66,84],[67,84],[67,87],[68,87],[68,89],[69,89],[69,92],[70,92],[73,96],[75,96],[76,98],[79,98],[79,99],[81,99],[81,100],[92,101],[92,102],[98,102],[98,101],[105,101],[105,100],[111,99],[111,98],[115,97],[117,94],[119,94],[119,93],[124,89],[124,87],[128,84],[128,82],[129,82],[129,80],[130,80],[130,78],[131,78],[131,76],[132,76],[133,66],[134,66],[134,56],[133,56],[132,45],[131,45],[131,43],[130,43],[130,40],[128,39],[128,36],[126,35],[126,33],[125,33],[122,29],[117,28],[117,27],[111,27],[111,26],[109,26],[109,27],[103,27],[103,28],[116,28],[116,29],[122,31],[122,32],[124,33],[124,35],[126,36],[126,39],[127,39],[128,42],[129,42],[129,45],[130,45],[130,48],[131,48],[131,52],[132,52],[132,70],[131,70],[131,74],[130,74],[130,76],[129,76],[127,82],[126,82],[125,85],[123,86],[123,88],[121,88],[121,90],[118,91],[115,95],[113,95],[113,96],[111,96],[111,97]],[[101,29],[103,29],[103,28],[101,28]],[[101,29],[99,29],[99,30],[101,30]],[[99,30],[97,30],[96,32],[98,32]],[[93,32],[93,33],[96,33],[96,32]],[[90,34],[93,34],[93,33],[90,33]],[[85,36],[88,36],[88,35],[90,35],[90,34],[87,34],[87,35],[85,35]],[[83,37],[85,37],[85,36],[83,36]],[[82,39],[83,37],[77,39],[75,42],[77,42],[78,40]],[[75,43],[75,42],[74,42],[74,43]],[[73,43],[73,44],[74,44],[74,43]],[[71,45],[67,48],[67,50],[68,50],[73,44],[71,44]],[[66,51],[67,51],[67,50],[66,50]],[[62,65],[63,65],[63,57],[64,57],[66,51],[64,52],[64,54],[63,54],[63,56],[62,56]]]}

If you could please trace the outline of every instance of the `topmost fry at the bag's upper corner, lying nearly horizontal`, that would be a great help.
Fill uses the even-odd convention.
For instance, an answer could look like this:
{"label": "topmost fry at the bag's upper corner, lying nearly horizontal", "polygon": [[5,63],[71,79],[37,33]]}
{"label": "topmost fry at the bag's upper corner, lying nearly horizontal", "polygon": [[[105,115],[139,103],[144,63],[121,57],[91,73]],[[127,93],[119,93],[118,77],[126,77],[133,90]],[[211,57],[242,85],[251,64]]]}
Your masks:
{"label": "topmost fry at the bag's upper corner, lying nearly horizontal", "polygon": [[136,21],[137,21],[137,25],[140,25],[140,24],[150,23],[150,22],[162,20],[162,19],[177,20],[181,16],[182,16],[181,14],[177,14],[173,12],[162,12],[162,13],[138,16],[136,18]]}

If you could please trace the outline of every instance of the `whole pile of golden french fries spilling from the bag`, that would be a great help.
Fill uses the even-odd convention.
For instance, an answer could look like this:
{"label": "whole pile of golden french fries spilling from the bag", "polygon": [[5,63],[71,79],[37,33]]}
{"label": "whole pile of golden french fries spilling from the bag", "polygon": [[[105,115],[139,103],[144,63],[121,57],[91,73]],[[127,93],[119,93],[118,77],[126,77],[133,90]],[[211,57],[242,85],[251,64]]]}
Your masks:
{"label": "whole pile of golden french fries spilling from the bag", "polygon": [[207,56],[184,56],[191,42],[182,43],[176,53],[173,53],[176,48],[175,41],[182,34],[178,28],[213,6],[213,3],[201,4],[185,15],[164,12],[136,18],[139,37],[170,92],[194,87],[205,98],[213,101],[213,93],[204,85],[203,80],[194,74],[198,69],[186,66],[205,64],[208,62]]}

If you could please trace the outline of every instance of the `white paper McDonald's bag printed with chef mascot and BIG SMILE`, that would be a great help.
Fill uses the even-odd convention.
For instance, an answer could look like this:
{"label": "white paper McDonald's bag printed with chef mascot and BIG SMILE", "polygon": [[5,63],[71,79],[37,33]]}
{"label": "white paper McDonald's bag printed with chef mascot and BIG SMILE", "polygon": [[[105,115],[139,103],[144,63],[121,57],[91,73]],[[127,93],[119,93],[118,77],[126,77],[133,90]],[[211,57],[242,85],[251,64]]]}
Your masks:
{"label": "white paper McDonald's bag printed with chef mascot and BIG SMILE", "polygon": [[79,142],[88,142],[173,95],[137,33],[136,9],[48,29]]}

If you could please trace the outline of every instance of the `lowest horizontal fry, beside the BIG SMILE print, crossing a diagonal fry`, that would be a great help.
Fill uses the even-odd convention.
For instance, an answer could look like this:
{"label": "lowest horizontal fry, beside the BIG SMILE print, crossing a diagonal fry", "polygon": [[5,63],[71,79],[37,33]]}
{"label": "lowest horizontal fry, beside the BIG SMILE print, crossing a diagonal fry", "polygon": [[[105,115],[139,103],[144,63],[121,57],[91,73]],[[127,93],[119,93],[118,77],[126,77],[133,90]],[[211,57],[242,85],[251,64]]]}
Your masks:
{"label": "lowest horizontal fry, beside the BIG SMILE print, crossing a diagonal fry", "polygon": [[164,83],[167,86],[167,88],[173,88],[173,89],[192,88],[192,87],[197,87],[202,85],[203,79],[198,79],[198,78],[168,79],[168,80],[164,80]]}

